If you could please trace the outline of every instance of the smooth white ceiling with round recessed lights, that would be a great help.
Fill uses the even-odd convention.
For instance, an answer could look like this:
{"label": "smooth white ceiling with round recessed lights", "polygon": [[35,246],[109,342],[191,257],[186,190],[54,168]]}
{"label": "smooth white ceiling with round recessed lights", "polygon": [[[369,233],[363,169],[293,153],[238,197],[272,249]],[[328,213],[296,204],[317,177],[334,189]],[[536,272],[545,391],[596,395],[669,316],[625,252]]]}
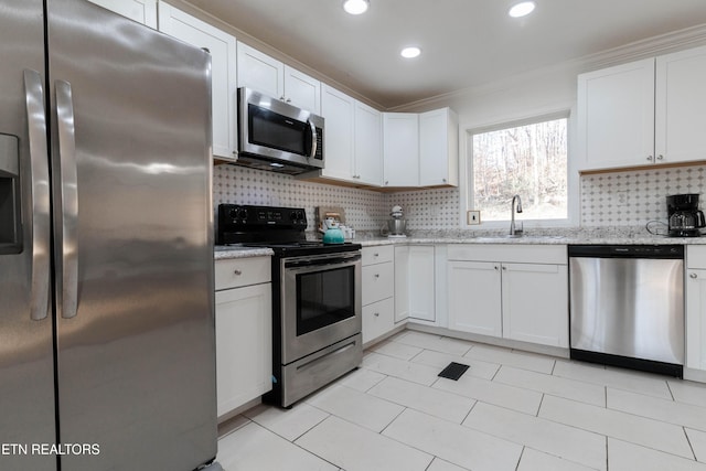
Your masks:
{"label": "smooth white ceiling with round recessed lights", "polygon": [[536,0],[524,19],[513,0],[189,2],[386,109],[706,24],[706,0]]}

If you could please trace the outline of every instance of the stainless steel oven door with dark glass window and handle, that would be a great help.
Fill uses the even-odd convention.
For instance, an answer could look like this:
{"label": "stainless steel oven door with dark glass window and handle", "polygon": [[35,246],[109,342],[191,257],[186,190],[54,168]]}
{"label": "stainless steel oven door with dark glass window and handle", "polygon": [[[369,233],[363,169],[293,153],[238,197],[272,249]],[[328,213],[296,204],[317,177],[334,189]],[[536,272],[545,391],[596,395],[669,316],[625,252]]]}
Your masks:
{"label": "stainless steel oven door with dark glass window and handle", "polygon": [[361,253],[281,260],[285,365],[361,332]]}

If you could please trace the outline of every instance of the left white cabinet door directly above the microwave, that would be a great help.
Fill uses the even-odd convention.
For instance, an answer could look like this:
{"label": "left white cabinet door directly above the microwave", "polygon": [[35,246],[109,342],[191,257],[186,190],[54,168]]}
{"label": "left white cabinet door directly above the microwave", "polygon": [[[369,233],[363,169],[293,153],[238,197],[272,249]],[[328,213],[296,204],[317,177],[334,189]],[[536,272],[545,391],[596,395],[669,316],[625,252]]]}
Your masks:
{"label": "left white cabinet door directly above the microwave", "polygon": [[253,88],[272,98],[285,97],[285,65],[238,41],[238,87]]}

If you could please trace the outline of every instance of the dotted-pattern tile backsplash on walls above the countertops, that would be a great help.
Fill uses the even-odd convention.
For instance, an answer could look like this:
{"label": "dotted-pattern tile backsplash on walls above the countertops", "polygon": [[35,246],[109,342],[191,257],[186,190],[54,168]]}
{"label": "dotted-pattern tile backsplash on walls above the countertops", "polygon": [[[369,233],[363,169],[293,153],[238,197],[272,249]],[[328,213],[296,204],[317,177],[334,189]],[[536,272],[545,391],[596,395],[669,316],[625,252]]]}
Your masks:
{"label": "dotted-pattern tile backsplash on walls above the countertops", "polygon": [[[580,179],[581,226],[666,222],[665,196],[705,192],[706,165],[584,175]],[[459,227],[458,189],[385,194],[224,164],[214,168],[213,201],[215,206],[238,203],[303,207],[312,223],[317,206],[341,206],[345,208],[347,224],[357,231],[378,231],[389,217],[392,206],[399,204],[410,231]]]}

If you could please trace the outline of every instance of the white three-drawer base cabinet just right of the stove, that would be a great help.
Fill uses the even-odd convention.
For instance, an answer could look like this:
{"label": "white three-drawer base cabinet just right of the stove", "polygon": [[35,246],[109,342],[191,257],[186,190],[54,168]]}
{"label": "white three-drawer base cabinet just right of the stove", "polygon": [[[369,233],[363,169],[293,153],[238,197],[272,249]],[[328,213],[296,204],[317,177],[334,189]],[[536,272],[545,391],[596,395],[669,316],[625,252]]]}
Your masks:
{"label": "white three-drawer base cabinet just right of the stove", "polygon": [[365,344],[395,328],[393,246],[364,247],[362,265],[363,344]]}

